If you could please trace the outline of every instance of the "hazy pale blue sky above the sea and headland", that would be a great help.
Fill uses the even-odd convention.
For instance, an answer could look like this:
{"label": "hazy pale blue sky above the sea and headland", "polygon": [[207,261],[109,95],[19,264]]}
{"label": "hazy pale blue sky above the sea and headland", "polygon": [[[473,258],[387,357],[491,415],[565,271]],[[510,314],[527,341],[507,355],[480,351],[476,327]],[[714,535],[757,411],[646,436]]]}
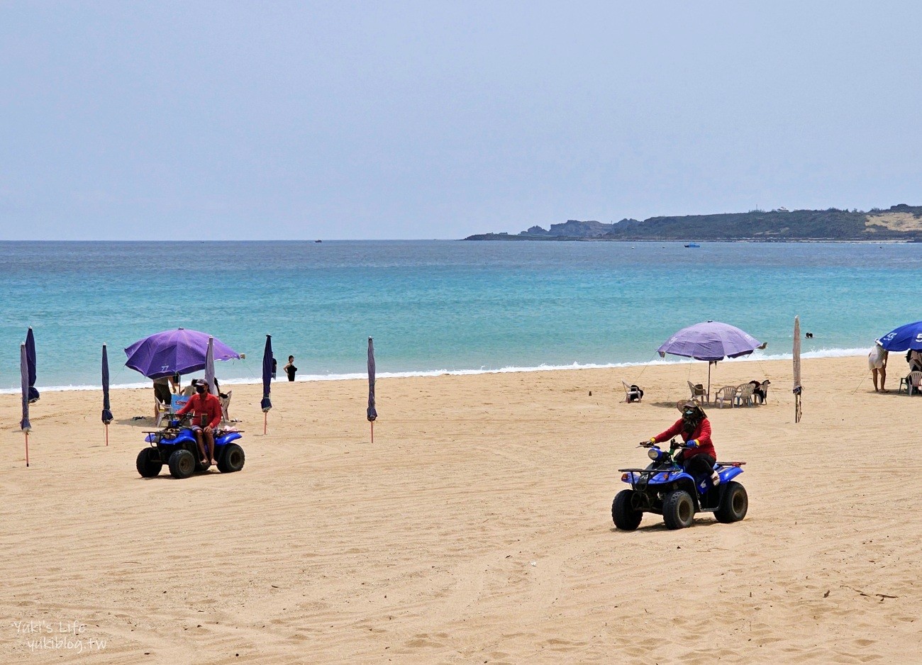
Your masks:
{"label": "hazy pale blue sky above the sea and headland", "polygon": [[915,2],[0,0],[0,239],[922,204]]}

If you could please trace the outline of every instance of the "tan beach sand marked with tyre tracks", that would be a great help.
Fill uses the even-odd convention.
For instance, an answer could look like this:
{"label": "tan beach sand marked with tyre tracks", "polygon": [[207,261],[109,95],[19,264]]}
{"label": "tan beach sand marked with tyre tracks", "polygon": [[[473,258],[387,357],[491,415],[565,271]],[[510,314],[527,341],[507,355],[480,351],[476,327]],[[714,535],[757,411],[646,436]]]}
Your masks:
{"label": "tan beach sand marked with tyre tracks", "polygon": [[718,364],[773,381],[708,409],[750,511],[680,531],[610,505],[704,363],[379,379],[373,445],[364,381],[275,383],[267,436],[232,386],[245,468],[182,481],[136,473],[149,389],[113,392],[108,448],[99,392],[45,392],[29,469],[4,395],[0,662],[918,662],[922,398],[891,361],[884,394],[804,361],[799,425],[790,361]]}

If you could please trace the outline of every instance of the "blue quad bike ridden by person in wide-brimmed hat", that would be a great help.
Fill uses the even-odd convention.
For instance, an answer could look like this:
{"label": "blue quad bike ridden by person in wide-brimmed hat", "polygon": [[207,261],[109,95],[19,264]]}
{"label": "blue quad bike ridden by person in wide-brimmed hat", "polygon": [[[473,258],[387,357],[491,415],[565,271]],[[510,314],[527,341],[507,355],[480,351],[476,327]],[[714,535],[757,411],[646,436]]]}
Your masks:
{"label": "blue quad bike ridden by person in wide-brimmed hat", "polygon": [[611,502],[611,519],[623,531],[633,531],[640,525],[644,513],[663,516],[667,529],[690,527],[698,512],[714,513],[719,522],[738,522],[746,517],[749,497],[746,488],[736,478],[743,472],[744,461],[718,461],[714,471],[720,483],[710,476],[695,478],[673,459],[677,449],[688,448],[675,439],[663,450],[651,443],[642,443],[652,460],[645,469],[619,469],[621,481],[631,489],[621,490]]}

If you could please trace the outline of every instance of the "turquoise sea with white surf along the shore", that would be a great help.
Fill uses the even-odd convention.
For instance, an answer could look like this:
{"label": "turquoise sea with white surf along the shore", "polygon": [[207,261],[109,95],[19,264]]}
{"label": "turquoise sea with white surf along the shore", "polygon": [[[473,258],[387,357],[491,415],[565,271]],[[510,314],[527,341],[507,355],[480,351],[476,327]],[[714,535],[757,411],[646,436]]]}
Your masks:
{"label": "turquoise sea with white surf along the shore", "polygon": [[[656,347],[724,321],[789,358],[856,356],[922,319],[922,244],[554,241],[0,242],[0,391],[19,390],[31,326],[40,390],[149,386],[124,348],[170,328],[208,332],[258,382],[266,334],[298,380],[689,362]],[[195,375],[193,375],[195,376]]]}

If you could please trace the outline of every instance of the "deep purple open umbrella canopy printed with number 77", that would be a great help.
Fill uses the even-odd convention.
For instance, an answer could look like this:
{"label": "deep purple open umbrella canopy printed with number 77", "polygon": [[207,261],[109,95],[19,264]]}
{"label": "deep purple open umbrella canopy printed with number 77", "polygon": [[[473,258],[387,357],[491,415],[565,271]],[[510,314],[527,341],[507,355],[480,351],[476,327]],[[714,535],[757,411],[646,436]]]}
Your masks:
{"label": "deep purple open umbrella canopy printed with number 77", "polygon": [[[169,377],[174,372],[195,372],[205,368],[209,337],[207,332],[184,328],[157,332],[126,348],[124,353],[128,360],[124,365],[139,371],[148,379]],[[236,360],[240,354],[216,337],[214,358]]]}

